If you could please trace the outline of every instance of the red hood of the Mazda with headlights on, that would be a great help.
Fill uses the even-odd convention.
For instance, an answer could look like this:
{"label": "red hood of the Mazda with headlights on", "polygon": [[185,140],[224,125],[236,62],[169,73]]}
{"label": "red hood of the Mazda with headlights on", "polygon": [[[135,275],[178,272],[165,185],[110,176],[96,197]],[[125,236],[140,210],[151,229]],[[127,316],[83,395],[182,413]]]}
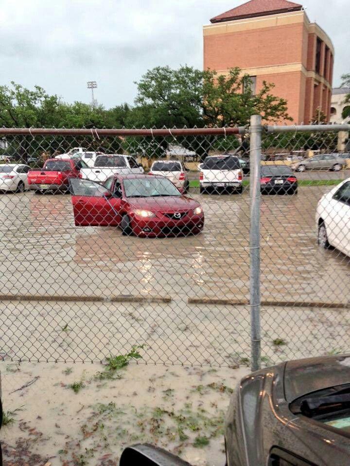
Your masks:
{"label": "red hood of the Mazda with headlights on", "polygon": [[150,210],[152,212],[183,211],[195,209],[200,205],[199,202],[187,196],[128,198],[127,201],[132,208]]}

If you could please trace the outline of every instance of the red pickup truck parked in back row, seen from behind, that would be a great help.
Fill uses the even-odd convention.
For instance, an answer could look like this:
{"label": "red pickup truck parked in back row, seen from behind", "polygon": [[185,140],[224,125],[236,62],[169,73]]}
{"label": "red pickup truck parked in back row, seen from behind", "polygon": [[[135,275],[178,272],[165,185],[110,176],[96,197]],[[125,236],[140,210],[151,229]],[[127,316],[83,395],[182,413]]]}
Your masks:
{"label": "red pickup truck parked in back row, seen from behind", "polygon": [[48,159],[43,168],[28,172],[29,189],[35,193],[69,191],[70,178],[80,178],[80,169],[88,165],[80,159]]}

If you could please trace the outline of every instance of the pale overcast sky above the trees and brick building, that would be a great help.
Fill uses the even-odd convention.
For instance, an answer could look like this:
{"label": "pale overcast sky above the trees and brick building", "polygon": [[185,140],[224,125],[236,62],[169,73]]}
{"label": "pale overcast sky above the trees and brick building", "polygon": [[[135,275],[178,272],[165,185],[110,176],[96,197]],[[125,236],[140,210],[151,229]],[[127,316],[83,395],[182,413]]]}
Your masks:
{"label": "pale overcast sky above the trees and brick building", "polygon": [[[202,26],[242,0],[1,0],[0,84],[39,84],[63,100],[107,108],[136,95],[149,68],[203,67]],[[305,0],[332,38],[334,85],[350,72],[349,0]],[[321,6],[322,4],[322,6]]]}

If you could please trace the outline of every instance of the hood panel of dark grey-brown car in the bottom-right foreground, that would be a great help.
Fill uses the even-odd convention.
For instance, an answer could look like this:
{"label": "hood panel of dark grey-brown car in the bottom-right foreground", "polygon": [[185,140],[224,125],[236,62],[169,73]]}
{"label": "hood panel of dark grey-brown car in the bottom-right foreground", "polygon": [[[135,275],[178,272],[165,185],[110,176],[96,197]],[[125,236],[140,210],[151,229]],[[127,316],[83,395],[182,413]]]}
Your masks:
{"label": "hood panel of dark grey-brown car in the bottom-right foreground", "polygon": [[350,383],[350,354],[289,361],[284,370],[286,400]]}

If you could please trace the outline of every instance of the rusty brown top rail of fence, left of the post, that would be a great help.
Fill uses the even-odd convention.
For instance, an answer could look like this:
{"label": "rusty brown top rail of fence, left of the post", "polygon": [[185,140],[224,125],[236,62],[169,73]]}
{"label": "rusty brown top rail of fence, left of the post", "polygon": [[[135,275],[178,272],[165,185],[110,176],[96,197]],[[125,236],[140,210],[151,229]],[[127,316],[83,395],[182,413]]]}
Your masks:
{"label": "rusty brown top rail of fence, left of the post", "polygon": [[159,129],[99,129],[99,128],[0,128],[2,136],[205,136],[244,134],[248,130],[239,128],[159,128]]}

